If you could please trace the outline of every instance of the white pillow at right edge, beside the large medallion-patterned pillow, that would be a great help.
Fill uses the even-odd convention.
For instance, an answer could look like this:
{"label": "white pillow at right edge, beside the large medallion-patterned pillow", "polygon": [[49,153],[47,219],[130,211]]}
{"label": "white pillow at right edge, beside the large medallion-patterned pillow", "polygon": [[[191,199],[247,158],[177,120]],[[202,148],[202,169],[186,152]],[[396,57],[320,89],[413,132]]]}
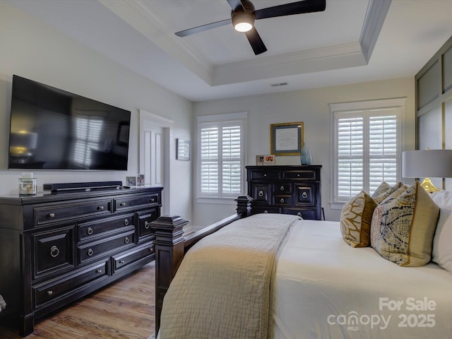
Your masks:
{"label": "white pillow at right edge, beside the large medallion-patterned pillow", "polygon": [[452,273],[452,210],[440,208],[433,237],[432,261]]}

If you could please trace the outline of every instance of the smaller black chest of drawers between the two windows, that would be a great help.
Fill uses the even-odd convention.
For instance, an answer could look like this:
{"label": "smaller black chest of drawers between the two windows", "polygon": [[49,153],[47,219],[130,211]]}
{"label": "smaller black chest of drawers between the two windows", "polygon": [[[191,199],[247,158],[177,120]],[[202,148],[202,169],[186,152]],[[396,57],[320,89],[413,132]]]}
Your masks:
{"label": "smaller black chest of drawers between the two windows", "polygon": [[246,166],[251,213],[286,213],[321,220],[321,165]]}

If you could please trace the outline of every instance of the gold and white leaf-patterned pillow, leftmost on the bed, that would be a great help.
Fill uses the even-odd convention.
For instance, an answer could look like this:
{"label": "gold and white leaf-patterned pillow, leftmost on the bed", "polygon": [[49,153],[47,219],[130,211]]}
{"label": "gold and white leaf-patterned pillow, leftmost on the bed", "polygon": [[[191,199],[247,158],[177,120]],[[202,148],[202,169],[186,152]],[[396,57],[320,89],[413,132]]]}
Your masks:
{"label": "gold and white leaf-patterned pillow, leftmost on the bed", "polygon": [[370,244],[370,222],[376,202],[364,191],[350,199],[340,213],[340,232],[352,247],[367,247]]}

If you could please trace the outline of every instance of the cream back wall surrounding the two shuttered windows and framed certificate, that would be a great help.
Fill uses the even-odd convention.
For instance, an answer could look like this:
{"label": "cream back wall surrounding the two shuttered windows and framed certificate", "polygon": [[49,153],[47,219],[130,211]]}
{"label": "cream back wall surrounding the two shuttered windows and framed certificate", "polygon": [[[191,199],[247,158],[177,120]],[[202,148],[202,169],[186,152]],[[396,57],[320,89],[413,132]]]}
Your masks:
{"label": "cream back wall surrounding the two shuttered windows and framed certificate", "polygon": [[[254,95],[231,100],[197,102],[196,116],[248,112],[248,148],[246,165],[255,165],[255,156],[270,153],[270,124],[304,122],[304,142],[312,153],[313,164],[321,169],[321,198],[327,220],[339,220],[340,210],[331,210],[330,202],[330,109],[333,102],[407,97],[403,149],[415,148],[415,82],[413,78],[393,79],[273,95]],[[195,155],[196,156],[196,155]],[[275,157],[276,165],[299,165],[299,157]],[[194,190],[195,191],[195,190]],[[246,191],[245,191],[246,193]],[[194,203],[194,223],[209,225],[233,214],[234,205]]]}

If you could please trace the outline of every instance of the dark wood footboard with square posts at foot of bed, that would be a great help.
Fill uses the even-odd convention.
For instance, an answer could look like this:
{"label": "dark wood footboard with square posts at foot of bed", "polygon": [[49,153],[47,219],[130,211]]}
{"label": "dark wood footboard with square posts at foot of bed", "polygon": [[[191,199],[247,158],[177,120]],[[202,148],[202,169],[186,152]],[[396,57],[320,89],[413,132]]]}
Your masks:
{"label": "dark wood footboard with square posts at foot of bed", "polygon": [[155,333],[160,328],[163,298],[186,251],[203,237],[220,230],[235,220],[251,215],[251,201],[253,201],[253,198],[239,196],[235,201],[237,201],[236,214],[230,215],[186,237],[183,235],[183,228],[189,221],[179,217],[179,215],[162,215],[151,222],[151,227],[155,234]]}

